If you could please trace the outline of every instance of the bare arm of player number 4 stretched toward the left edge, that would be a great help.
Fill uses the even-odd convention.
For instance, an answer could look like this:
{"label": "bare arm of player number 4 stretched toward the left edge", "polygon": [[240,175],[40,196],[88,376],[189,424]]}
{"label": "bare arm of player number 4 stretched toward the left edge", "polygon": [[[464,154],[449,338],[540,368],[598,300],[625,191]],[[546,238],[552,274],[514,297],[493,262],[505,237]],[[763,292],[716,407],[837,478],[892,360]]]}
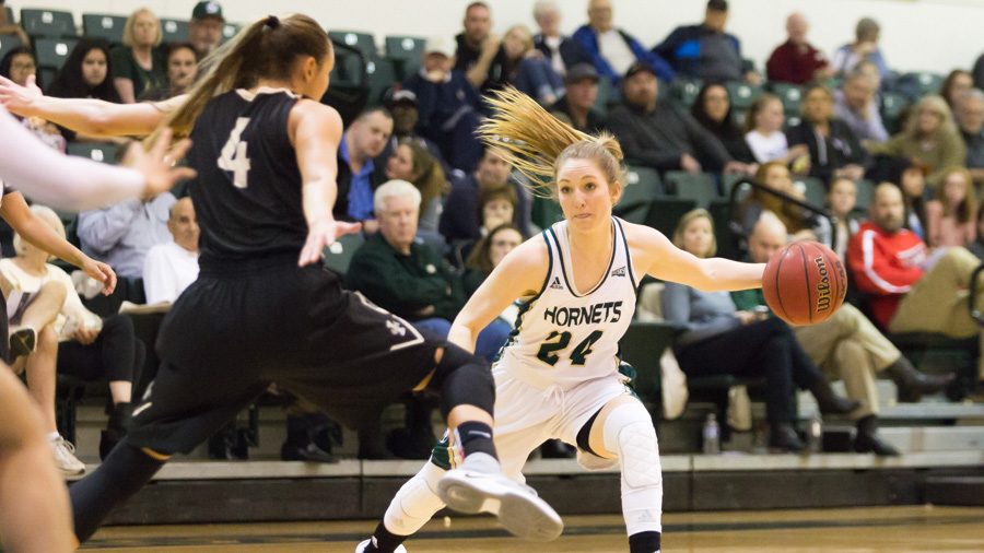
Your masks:
{"label": "bare arm of player number 4 stretched toward the left edge", "polygon": [[150,134],[187,95],[165,102],[114,104],[92,98],[52,98],[42,94],[30,78],[27,86],[0,77],[0,105],[21,117],[40,117],[75,132],[99,137]]}

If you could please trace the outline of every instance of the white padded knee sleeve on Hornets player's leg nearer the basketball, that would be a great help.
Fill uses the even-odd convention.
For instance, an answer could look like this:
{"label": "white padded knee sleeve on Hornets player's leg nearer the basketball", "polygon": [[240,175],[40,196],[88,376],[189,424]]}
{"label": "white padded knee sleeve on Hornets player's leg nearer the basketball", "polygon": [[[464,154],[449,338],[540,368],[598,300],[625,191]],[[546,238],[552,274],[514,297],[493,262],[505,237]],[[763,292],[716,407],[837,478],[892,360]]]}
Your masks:
{"label": "white padded knee sleeve on Hornets player's leg nearer the basketball", "polygon": [[629,536],[663,531],[663,468],[648,411],[639,401],[614,408],[605,420],[605,448],[619,454],[622,515]]}

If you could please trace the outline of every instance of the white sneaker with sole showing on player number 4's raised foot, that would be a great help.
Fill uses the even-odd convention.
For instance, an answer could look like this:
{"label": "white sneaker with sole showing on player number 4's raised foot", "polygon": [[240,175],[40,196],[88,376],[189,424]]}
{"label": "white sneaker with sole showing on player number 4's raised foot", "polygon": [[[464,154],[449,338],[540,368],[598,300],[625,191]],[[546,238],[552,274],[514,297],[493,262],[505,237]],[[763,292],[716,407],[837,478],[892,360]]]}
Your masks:
{"label": "white sneaker with sole showing on player number 4's raised foot", "polygon": [[557,539],[564,529],[560,516],[529,487],[506,478],[488,454],[471,454],[437,482],[437,495],[466,514],[489,513],[511,533],[530,541]]}

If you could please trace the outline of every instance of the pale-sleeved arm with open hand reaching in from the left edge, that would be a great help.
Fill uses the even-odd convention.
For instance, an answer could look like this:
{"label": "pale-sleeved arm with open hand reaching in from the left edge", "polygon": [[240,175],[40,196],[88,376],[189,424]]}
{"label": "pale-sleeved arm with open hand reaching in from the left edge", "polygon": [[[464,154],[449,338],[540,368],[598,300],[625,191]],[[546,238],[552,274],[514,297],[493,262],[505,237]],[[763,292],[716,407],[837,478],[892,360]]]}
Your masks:
{"label": "pale-sleeved arm with open hand reaching in from the left edge", "polygon": [[181,141],[166,154],[169,131],[162,133],[149,153],[132,149],[128,160],[132,169],[62,155],[43,144],[3,108],[0,108],[0,137],[3,137],[0,179],[33,200],[67,211],[154,196],[169,190],[178,180],[195,176],[189,168],[172,168],[191,143]]}

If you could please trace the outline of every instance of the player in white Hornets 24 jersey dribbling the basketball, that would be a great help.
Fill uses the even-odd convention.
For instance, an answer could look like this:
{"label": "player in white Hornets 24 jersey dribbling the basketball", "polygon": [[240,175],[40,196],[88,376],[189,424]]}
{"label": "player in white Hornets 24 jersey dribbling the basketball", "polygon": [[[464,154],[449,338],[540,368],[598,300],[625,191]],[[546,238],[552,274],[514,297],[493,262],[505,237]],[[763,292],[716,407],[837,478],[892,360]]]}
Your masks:
{"label": "player in white Hornets 24 jersey dribbling the basketball", "polygon": [[[588,469],[619,466],[622,514],[632,553],[659,551],[663,475],[649,413],[619,373],[618,343],[635,310],[639,279],[649,274],[704,291],[761,286],[764,264],[698,259],[658,231],[612,216],[625,183],[619,143],[562,123],[506,90],[482,140],[548,191],[564,221],[530,238],[471,297],[449,340],[475,348],[479,330],[522,301],[516,332],[493,366],[495,445],[503,473],[522,479],[529,454],[560,438]],[[448,462],[450,461],[450,462]],[[406,551],[401,542],[443,507],[438,480],[454,464],[446,449],[407,482],[372,539],[356,552]]]}

